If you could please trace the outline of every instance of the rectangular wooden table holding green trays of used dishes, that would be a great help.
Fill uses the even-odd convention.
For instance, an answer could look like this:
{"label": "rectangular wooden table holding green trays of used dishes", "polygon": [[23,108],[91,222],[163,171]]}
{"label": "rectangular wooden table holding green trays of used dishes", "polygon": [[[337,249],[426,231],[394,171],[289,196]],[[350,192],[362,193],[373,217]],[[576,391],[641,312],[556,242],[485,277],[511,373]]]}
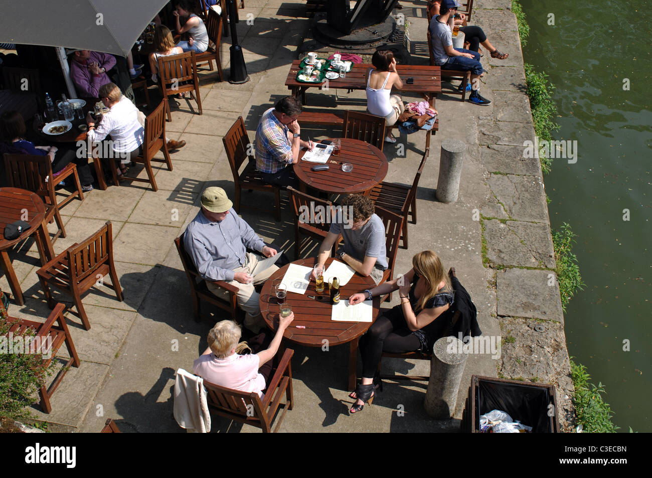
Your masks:
{"label": "rectangular wooden table holding green trays of used dishes", "polygon": [[[286,86],[292,92],[292,95],[298,97],[299,94],[305,101],[305,94],[309,88],[321,88],[324,83],[302,83],[297,82],[297,73],[301,68],[299,64],[301,60],[292,62],[289,68],[288,78],[286,79]],[[366,75],[370,68],[374,65],[370,63],[354,63],[351,71],[346,74],[346,78],[335,78],[329,80],[328,87],[331,88],[344,88],[344,89],[366,89]],[[430,65],[396,65],[396,72],[403,80],[403,89],[400,91],[404,93],[419,93],[424,100],[426,100],[432,108],[434,108],[434,101],[437,93],[441,93],[441,69],[439,67],[431,67]],[[408,85],[406,80],[414,78],[414,83]]]}

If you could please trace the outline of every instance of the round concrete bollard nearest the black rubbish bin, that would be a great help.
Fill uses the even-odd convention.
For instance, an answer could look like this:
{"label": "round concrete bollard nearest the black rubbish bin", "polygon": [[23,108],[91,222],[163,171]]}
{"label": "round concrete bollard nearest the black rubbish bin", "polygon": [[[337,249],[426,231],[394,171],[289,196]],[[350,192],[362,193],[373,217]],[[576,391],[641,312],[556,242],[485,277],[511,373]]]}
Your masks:
{"label": "round concrete bollard nearest the black rubbish bin", "polygon": [[454,336],[442,337],[432,346],[430,381],[423,406],[434,419],[448,420],[455,414],[457,394],[468,356],[462,350],[464,343]]}

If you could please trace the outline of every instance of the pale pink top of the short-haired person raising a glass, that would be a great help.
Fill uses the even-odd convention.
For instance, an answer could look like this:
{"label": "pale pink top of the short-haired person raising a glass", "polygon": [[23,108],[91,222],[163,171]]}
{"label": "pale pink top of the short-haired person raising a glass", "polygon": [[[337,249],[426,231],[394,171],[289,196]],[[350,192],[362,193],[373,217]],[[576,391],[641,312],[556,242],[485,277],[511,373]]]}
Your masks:
{"label": "pale pink top of the short-haired person raising a glass", "polygon": [[207,353],[194,361],[192,370],[215,385],[241,392],[256,392],[262,398],[265,378],[258,373],[259,366],[258,355],[253,353],[234,353],[226,359],[218,359],[214,353]]}

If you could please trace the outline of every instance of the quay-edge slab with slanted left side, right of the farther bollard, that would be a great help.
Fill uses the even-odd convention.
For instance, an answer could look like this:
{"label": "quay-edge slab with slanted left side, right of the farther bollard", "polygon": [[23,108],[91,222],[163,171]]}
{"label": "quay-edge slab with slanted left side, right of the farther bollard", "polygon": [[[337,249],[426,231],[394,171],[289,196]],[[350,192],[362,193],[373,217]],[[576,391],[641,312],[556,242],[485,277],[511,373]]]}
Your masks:
{"label": "quay-edge slab with slanted left side, right of the farther bollard", "polygon": [[509,217],[548,224],[548,204],[541,177],[492,174],[487,181]]}

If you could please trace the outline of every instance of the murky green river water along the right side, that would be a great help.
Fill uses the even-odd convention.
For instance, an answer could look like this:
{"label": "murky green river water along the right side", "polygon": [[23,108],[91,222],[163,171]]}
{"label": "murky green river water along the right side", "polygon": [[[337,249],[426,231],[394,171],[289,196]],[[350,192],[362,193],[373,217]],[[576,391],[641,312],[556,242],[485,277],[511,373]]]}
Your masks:
{"label": "murky green river water along the right side", "polygon": [[557,87],[553,138],[578,147],[544,178],[586,284],[565,313],[569,354],[605,385],[621,432],[651,432],[652,12],[639,0],[521,3],[525,61]]}

